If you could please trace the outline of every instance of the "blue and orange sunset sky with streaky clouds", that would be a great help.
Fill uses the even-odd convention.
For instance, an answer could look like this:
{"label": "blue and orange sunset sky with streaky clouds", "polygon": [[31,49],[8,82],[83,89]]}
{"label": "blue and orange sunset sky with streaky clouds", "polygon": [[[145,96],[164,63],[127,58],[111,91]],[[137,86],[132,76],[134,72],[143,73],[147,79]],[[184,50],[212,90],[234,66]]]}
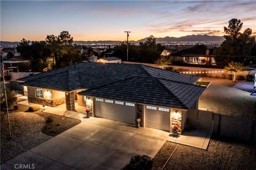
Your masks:
{"label": "blue and orange sunset sky with streaky clouds", "polygon": [[1,40],[130,40],[154,35],[223,35],[232,18],[256,35],[256,1],[1,1]]}

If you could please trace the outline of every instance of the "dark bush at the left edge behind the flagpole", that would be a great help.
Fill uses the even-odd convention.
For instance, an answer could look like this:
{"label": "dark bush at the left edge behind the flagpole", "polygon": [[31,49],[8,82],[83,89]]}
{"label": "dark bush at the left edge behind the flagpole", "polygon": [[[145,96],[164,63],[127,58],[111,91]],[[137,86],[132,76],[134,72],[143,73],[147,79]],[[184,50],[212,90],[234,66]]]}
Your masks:
{"label": "dark bush at the left edge behind the flagpole", "polygon": [[[6,96],[7,96],[7,104],[11,106],[16,100],[17,97],[13,94],[10,88],[6,87]],[[6,100],[5,100],[5,92],[4,86],[1,86],[1,109],[6,108]]]}

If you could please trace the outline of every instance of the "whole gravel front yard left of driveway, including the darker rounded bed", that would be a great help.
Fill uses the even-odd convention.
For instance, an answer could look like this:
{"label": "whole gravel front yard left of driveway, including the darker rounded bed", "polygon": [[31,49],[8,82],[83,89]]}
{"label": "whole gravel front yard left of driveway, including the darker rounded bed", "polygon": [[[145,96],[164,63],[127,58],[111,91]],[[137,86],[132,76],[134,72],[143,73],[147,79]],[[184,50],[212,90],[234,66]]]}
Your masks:
{"label": "whole gravel front yard left of driveway, including the darker rounded bed", "polygon": [[[9,138],[7,115],[1,115],[1,164],[23,152],[51,139],[53,136],[81,123],[80,120],[43,113],[42,109],[26,112],[28,106],[19,105],[18,111],[10,111],[12,138]],[[51,122],[46,123],[46,118]]]}

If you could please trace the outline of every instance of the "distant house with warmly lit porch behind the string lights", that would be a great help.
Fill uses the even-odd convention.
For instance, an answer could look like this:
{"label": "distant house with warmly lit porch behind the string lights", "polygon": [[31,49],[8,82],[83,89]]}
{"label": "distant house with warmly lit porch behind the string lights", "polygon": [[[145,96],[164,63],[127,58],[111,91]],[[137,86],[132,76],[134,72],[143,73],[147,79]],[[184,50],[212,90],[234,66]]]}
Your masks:
{"label": "distant house with warmly lit porch behind the string lights", "polygon": [[172,54],[174,61],[180,61],[190,64],[216,64],[214,55],[211,55],[213,50],[207,49],[205,54],[182,54],[180,52]]}

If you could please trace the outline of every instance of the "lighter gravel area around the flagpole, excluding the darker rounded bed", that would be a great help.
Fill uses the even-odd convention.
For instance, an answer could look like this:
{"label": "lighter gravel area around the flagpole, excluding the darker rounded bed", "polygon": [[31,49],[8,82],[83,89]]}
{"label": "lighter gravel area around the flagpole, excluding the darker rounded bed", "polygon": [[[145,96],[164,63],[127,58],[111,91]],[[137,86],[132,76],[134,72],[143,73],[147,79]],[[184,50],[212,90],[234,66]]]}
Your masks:
{"label": "lighter gravel area around the flagpole, excluding the darker rounded bed", "polygon": [[13,138],[9,138],[5,115],[1,122],[1,164],[52,138],[42,133],[45,124],[42,116],[29,112],[13,112],[9,115]]}

